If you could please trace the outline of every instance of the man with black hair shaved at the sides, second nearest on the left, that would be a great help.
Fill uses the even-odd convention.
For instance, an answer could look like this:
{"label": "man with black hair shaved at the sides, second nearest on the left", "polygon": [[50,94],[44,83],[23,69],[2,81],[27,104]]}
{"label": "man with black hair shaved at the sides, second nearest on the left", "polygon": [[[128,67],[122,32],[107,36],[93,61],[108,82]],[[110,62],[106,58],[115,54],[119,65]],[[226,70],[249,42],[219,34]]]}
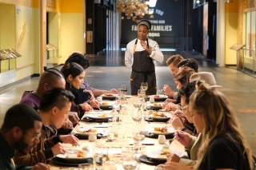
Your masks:
{"label": "man with black hair shaved at the sides, second nearest on the left", "polygon": [[49,125],[61,128],[70,112],[70,106],[74,101],[72,93],[65,89],[53,88],[42,95],[39,106],[39,115],[42,118],[42,136],[37,147],[28,154],[17,152],[15,163],[34,165],[38,162],[46,163],[46,160],[58,154],[66,152],[63,143],[78,144],[78,139],[73,135],[51,136]]}

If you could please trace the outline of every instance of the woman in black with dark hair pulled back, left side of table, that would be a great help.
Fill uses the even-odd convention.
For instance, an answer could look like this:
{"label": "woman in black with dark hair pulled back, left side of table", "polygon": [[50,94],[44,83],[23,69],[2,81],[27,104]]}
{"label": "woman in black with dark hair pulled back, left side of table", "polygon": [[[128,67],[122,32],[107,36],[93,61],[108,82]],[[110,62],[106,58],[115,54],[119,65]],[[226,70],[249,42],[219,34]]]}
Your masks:
{"label": "woman in black with dark hair pulled back, left side of table", "polygon": [[92,107],[86,103],[86,101],[90,100],[90,93],[81,89],[86,72],[81,65],[70,62],[62,69],[62,73],[66,80],[66,89],[74,94],[75,105],[71,106],[71,111],[77,112],[78,117],[82,118],[85,111],[92,109]]}

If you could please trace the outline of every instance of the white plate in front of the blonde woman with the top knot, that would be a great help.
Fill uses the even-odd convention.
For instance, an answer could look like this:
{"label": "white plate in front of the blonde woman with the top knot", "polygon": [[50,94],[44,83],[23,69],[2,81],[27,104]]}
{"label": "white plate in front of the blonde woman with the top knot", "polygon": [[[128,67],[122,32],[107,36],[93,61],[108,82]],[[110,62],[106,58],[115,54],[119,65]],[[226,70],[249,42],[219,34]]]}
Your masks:
{"label": "white plate in front of the blonde woman with the top knot", "polygon": [[175,153],[179,157],[184,156],[183,152],[174,150],[174,149],[170,149],[170,148],[158,148],[158,149],[154,149],[154,150],[146,150],[146,156],[148,156],[150,158],[154,158],[155,160],[166,160],[166,156],[161,155],[161,153],[164,151],[168,151],[170,153]]}

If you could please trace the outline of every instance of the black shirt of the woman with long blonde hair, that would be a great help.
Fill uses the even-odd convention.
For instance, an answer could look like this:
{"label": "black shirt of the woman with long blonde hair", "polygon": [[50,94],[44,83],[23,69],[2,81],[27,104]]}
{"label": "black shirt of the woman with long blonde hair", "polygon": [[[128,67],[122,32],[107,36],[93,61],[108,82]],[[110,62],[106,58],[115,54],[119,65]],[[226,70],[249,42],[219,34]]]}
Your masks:
{"label": "black shirt of the woman with long blonde hair", "polygon": [[198,170],[215,170],[216,168],[232,168],[249,170],[249,162],[244,148],[238,140],[231,140],[230,136],[217,136],[206,151]]}

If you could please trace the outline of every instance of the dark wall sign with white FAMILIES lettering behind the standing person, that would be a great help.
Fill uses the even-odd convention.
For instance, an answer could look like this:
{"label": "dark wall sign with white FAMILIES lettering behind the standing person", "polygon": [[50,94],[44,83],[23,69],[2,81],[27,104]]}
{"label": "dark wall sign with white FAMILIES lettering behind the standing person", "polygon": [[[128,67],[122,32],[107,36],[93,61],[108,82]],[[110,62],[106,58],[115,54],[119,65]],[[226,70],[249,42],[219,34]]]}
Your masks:
{"label": "dark wall sign with white FAMILIES lettering behind the standing person", "polygon": [[[161,46],[174,43],[174,38],[182,36],[183,10],[182,1],[177,0],[161,0],[158,1],[154,8],[154,18],[146,15],[143,19],[148,19],[152,23],[148,37],[158,42]],[[132,19],[126,19],[122,14],[122,36],[121,45],[125,46],[128,42],[137,38],[137,22]]]}

